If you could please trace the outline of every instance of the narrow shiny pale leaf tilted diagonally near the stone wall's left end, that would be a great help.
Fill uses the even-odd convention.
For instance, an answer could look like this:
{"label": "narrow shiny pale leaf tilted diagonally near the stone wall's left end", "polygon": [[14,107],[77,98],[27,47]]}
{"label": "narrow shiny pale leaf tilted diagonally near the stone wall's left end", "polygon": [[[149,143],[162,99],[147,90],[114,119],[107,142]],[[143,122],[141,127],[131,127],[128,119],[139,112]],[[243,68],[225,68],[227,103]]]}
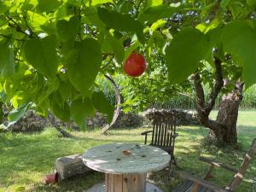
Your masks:
{"label": "narrow shiny pale leaf tilted diagonally near the stone wall's left end", "polygon": [[26,111],[31,107],[32,103],[27,103],[24,105],[21,105],[19,108],[15,108],[8,114],[8,126],[14,125],[25,113]]}

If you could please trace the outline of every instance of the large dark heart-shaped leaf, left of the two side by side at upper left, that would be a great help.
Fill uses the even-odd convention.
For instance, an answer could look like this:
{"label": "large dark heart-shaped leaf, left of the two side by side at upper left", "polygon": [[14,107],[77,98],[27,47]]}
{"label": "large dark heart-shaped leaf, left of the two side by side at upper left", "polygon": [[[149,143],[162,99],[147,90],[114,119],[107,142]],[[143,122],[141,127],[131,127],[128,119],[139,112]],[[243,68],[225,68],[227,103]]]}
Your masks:
{"label": "large dark heart-shaped leaf, left of the two side by side at upper left", "polygon": [[26,41],[23,48],[29,64],[49,79],[55,79],[57,71],[56,45],[54,37],[34,38]]}

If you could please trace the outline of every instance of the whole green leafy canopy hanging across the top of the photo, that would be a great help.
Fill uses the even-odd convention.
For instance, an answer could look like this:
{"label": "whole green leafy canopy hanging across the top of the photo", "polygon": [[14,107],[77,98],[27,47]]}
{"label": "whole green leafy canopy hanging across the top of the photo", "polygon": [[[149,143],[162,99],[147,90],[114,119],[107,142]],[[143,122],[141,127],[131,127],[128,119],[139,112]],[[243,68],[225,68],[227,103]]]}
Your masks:
{"label": "whole green leafy canopy hanging across the top of the photo", "polygon": [[145,55],[149,69],[162,58],[167,70],[156,72],[168,73],[169,86],[211,64],[218,49],[220,59],[230,55],[236,66],[227,76],[240,67],[234,77],[248,87],[256,82],[255,6],[250,0],[0,1],[1,100],[15,107],[11,121],[29,107],[81,127],[95,110],[110,120],[113,106],[95,79],[122,73],[132,51]]}

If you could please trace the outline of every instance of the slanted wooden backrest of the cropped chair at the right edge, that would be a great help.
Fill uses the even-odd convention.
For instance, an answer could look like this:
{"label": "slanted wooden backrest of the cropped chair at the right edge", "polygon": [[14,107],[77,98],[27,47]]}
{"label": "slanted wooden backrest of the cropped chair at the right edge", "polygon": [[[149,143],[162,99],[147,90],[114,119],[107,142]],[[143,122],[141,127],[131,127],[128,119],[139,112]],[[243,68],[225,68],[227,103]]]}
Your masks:
{"label": "slanted wooden backrest of the cropped chair at the right edge", "polygon": [[256,154],[256,138],[253,139],[252,146],[247,150],[247,154],[241,163],[241,167],[240,167],[239,171],[236,173],[232,182],[226,189],[236,191],[236,189],[239,186],[239,184],[241,183],[245,173],[247,172],[247,167],[249,166],[250,161],[253,160],[254,154]]}

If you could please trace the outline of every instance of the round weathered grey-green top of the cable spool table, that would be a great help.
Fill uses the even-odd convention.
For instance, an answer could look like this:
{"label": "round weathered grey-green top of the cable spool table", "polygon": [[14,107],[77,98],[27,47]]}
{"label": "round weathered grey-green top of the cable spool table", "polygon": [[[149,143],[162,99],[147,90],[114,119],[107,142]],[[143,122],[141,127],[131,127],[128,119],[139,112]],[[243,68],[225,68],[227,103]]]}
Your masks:
{"label": "round weathered grey-green top of the cable spool table", "polygon": [[[125,150],[128,153],[124,154]],[[97,146],[83,154],[86,166],[98,172],[112,174],[159,171],[166,167],[170,160],[170,154],[160,148],[131,143]]]}

